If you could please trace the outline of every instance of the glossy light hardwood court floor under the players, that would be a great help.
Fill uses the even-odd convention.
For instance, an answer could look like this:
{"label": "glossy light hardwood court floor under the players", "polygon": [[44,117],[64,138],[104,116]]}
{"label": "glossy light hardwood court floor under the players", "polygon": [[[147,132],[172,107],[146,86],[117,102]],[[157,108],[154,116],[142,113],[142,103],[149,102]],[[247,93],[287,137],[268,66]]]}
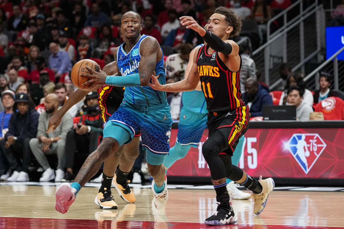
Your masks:
{"label": "glossy light hardwood court floor under the players", "polygon": [[344,192],[274,191],[259,216],[253,214],[251,200],[232,200],[237,225],[209,227],[203,222],[216,210],[214,190],[169,189],[169,200],[158,211],[152,207],[151,189],[134,188],[136,202],[129,204],[112,188],[119,207],[103,210],[94,203],[98,188],[84,187],[66,214],[54,209],[55,191],[56,186],[0,186],[0,229],[344,228]]}

